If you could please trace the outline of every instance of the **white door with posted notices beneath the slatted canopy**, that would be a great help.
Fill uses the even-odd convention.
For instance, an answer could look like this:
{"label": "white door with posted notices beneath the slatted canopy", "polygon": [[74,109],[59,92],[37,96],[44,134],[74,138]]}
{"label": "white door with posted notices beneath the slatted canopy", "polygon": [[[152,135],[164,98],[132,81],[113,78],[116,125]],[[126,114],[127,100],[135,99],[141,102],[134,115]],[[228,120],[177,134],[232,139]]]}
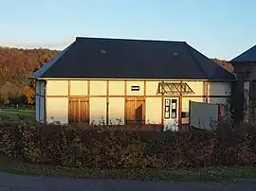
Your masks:
{"label": "white door with posted notices beneath the slatted canopy", "polygon": [[178,130],[178,98],[164,98],[164,130]]}

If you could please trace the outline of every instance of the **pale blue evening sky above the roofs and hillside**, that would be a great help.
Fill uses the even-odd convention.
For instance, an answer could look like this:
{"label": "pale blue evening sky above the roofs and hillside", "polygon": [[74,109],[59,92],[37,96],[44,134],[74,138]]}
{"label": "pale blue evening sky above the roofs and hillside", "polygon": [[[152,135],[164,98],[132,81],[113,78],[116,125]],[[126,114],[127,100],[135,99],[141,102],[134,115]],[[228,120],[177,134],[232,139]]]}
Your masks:
{"label": "pale blue evening sky above the roofs and hillside", "polygon": [[255,0],[0,0],[0,45],[63,50],[76,37],[184,41],[231,60],[256,44]]}

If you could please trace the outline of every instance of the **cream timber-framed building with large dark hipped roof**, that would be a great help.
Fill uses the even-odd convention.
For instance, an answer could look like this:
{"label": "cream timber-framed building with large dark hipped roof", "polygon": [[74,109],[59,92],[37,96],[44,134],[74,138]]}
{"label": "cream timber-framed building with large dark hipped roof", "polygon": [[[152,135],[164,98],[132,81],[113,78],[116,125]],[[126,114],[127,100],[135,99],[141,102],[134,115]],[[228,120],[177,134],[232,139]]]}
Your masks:
{"label": "cream timber-framed building with large dark hipped roof", "polygon": [[188,122],[189,101],[227,103],[235,76],[185,42],[76,38],[36,71],[40,122]]}

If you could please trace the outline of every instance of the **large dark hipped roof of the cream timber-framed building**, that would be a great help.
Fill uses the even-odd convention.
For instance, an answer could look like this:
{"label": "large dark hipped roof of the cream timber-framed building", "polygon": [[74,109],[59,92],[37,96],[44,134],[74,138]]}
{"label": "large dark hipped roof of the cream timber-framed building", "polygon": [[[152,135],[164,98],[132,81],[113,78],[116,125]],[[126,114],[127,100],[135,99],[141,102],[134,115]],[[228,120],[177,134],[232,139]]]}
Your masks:
{"label": "large dark hipped roof of the cream timber-framed building", "polygon": [[31,78],[236,80],[185,42],[77,38]]}

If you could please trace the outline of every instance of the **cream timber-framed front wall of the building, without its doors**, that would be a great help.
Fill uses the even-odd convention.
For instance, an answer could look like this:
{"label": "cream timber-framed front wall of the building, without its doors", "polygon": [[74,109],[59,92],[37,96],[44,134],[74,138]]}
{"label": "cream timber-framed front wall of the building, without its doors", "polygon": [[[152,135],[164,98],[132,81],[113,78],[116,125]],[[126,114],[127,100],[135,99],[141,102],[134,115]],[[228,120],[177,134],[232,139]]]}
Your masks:
{"label": "cream timber-framed front wall of the building, without its doors", "polygon": [[[174,82],[164,80],[165,82]],[[145,98],[145,123],[162,123],[162,96],[157,92],[161,80],[47,80],[47,122],[68,122],[68,97],[88,97],[91,123],[106,122],[123,124],[125,96]],[[176,81],[178,82],[178,81]],[[228,83],[204,81],[182,81],[192,89],[192,95],[175,96],[181,101],[180,111],[189,112],[189,102],[225,102],[230,96]],[[132,90],[137,88],[136,91]],[[223,96],[223,97],[222,97]],[[172,96],[170,96],[172,97]]]}

